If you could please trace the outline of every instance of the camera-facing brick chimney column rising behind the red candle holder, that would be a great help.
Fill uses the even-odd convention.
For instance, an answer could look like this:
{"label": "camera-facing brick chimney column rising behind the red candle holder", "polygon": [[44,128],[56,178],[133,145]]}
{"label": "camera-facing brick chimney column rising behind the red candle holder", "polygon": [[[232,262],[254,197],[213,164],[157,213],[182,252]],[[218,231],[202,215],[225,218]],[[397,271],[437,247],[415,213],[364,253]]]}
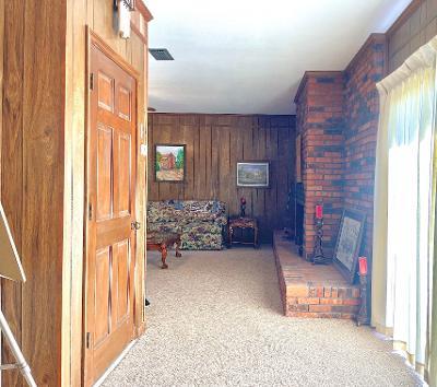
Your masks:
{"label": "camera-facing brick chimney column rising behind the red candle holder", "polygon": [[323,202],[324,245],[332,254],[343,209],[344,77],[342,72],[307,72],[296,96],[303,144],[305,191],[304,256],[312,255],[315,207]]}

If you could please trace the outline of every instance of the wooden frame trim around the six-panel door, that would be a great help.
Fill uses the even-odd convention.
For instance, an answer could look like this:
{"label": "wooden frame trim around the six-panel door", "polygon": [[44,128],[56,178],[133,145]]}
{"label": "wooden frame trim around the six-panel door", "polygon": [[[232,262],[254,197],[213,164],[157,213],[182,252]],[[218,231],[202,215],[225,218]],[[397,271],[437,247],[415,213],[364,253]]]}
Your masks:
{"label": "wooden frame trim around the six-panel door", "polygon": [[[88,160],[90,160],[90,132],[91,132],[91,50],[92,47],[95,46],[97,47],[102,54],[104,54],[107,58],[113,60],[117,66],[119,66],[123,71],[126,71],[130,77],[133,78],[134,80],[134,91],[135,91],[135,99],[132,103],[132,109],[134,110],[134,114],[132,117],[134,117],[135,122],[135,146],[134,146],[134,153],[133,153],[133,163],[135,165],[135,173],[134,173],[134,189],[135,189],[135,197],[137,197],[137,181],[138,181],[138,161],[139,161],[139,152],[138,152],[138,128],[139,128],[139,106],[138,106],[138,90],[139,90],[139,82],[140,82],[140,73],[130,64],[128,63],[119,54],[117,54],[113,48],[110,48],[105,40],[98,36],[90,26],[86,26],[86,61],[85,61],[85,168],[84,168],[84,239],[83,239],[83,283],[82,283],[82,290],[83,290],[83,295],[82,295],[82,360],[81,360],[81,379],[82,379],[82,385],[84,385],[85,380],[85,351],[86,351],[86,289],[87,289],[87,261],[88,261],[88,228],[90,228],[90,221],[88,221]],[[138,209],[135,208],[135,213],[133,214],[133,218],[137,218],[137,211]],[[137,234],[134,235],[134,244],[135,244],[135,254],[132,255],[132,259],[134,260],[134,272],[137,271],[137,263],[138,263],[138,249],[137,249],[137,241],[138,236]],[[137,294],[137,275],[133,273],[133,300],[135,301],[138,297],[141,300],[141,294]],[[140,313],[142,314],[142,310],[138,310],[137,308],[137,302],[133,302],[133,337],[138,337],[140,335],[141,329],[137,325],[137,318],[135,316]]]}

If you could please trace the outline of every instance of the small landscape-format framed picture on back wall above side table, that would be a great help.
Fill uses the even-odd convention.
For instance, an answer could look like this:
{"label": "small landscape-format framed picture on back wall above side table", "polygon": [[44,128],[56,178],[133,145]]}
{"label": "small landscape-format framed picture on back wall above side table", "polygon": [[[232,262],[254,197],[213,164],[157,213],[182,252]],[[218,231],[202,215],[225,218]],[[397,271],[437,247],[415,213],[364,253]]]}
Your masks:
{"label": "small landscape-format framed picture on back wall above side table", "polygon": [[237,162],[237,187],[270,188],[270,162]]}

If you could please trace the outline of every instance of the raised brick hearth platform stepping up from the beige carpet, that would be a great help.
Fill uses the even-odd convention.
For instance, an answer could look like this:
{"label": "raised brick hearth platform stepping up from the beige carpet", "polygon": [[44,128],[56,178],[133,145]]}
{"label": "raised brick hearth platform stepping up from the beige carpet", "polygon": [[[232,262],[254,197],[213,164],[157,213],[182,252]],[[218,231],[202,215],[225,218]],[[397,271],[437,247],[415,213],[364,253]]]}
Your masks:
{"label": "raised brick hearth platform stepping up from the beige carpet", "polygon": [[358,285],[349,284],[331,265],[315,266],[300,258],[282,231],[274,232],[273,249],[285,316],[355,318]]}

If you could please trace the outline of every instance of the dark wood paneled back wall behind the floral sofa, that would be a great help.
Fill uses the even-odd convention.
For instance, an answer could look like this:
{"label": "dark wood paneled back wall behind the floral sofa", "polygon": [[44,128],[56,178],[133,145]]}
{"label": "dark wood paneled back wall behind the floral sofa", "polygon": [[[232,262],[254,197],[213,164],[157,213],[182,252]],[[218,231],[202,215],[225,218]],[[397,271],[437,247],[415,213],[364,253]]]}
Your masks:
{"label": "dark wood paneled back wall behind the floral sofa", "polygon": [[[228,204],[229,214],[238,214],[244,196],[247,215],[259,219],[263,241],[284,226],[294,184],[294,116],[150,114],[151,160],[156,143],[187,144],[186,180],[156,183],[150,163],[150,200],[218,199]],[[237,161],[255,160],[270,161],[271,188],[237,188]]]}

